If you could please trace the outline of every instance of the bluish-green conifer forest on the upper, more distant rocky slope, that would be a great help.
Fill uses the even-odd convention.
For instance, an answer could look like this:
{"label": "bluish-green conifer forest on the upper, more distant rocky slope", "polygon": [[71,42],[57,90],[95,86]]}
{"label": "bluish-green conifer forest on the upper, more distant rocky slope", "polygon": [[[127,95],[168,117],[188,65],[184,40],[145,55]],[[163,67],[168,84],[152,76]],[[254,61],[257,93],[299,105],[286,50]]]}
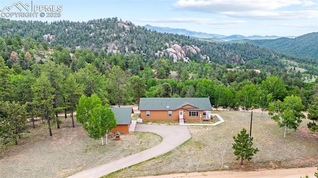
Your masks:
{"label": "bluish-green conifer forest on the upper, more distant rocky slope", "polygon": [[[191,61],[201,62],[200,55],[207,55],[211,62],[219,64],[246,65],[248,69],[267,68],[268,66],[286,67],[301,63],[309,74],[318,75],[317,60],[286,56],[274,50],[251,44],[211,43],[184,35],[157,33],[133,23],[123,22],[114,18],[94,19],[88,22],[56,21],[45,23],[41,21],[13,21],[0,19],[0,36],[13,38],[14,34],[22,38],[30,37],[36,42],[46,41],[51,45],[68,47],[72,52],[76,49],[90,49],[95,55],[106,53],[134,53],[143,60],[156,60],[160,57],[171,58],[163,52],[169,45],[178,44],[181,47],[195,45],[200,52],[185,51]],[[45,44],[42,44],[46,48]],[[167,46],[168,45],[168,46]],[[39,46],[38,46],[39,47]],[[11,49],[12,50],[12,49]],[[317,51],[317,50],[316,50]],[[10,51],[9,51],[10,52]],[[2,56],[5,60],[7,56]],[[6,58],[5,58],[6,57]],[[284,62],[284,61],[293,61]]]}

